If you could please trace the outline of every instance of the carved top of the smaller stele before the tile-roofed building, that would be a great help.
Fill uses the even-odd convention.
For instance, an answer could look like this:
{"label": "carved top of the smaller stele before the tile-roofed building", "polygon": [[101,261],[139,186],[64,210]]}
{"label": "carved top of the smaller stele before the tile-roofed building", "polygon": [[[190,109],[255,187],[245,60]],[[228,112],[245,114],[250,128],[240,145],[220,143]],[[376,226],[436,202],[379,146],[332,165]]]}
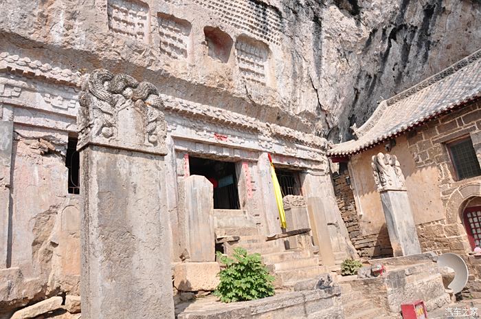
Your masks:
{"label": "carved top of the smaller stele before the tile-roofed building", "polygon": [[379,153],[372,156],[372,175],[378,192],[405,190],[405,179],[396,155]]}

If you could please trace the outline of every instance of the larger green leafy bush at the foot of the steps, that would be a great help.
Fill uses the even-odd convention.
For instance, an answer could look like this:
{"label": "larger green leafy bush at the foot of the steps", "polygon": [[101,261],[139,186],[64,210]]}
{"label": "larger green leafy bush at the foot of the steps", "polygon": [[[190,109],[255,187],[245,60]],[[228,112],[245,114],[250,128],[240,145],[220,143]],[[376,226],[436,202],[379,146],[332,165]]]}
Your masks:
{"label": "larger green leafy bush at the foot of the steps", "polygon": [[217,260],[225,268],[219,272],[220,283],[215,296],[223,303],[232,303],[274,295],[274,277],[262,263],[260,254],[247,254],[244,248],[235,248],[232,257],[217,252]]}

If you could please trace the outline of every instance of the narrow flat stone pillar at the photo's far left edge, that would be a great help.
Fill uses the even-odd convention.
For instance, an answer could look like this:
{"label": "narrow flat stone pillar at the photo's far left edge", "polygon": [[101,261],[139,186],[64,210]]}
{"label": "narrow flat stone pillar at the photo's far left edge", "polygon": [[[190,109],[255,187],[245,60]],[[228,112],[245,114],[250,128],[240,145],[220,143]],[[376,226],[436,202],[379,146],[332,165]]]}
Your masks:
{"label": "narrow flat stone pillar at the photo's far left edge", "polygon": [[8,267],[13,121],[0,120],[0,269]]}

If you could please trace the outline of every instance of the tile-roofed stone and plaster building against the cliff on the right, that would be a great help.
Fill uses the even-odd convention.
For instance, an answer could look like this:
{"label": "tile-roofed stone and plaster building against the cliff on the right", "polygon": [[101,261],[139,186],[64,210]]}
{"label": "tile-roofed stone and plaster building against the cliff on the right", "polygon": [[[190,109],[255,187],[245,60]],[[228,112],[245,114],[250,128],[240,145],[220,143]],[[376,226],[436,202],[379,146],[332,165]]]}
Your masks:
{"label": "tile-roofed stone and plaster building against the cliff on the right", "polygon": [[[372,177],[372,157],[395,156],[405,177],[416,234],[423,252],[463,256],[471,274],[481,245],[481,51],[414,87],[383,100],[356,139],[328,153],[342,217],[360,256],[392,256],[389,223]],[[414,236],[414,232],[410,234]],[[476,287],[476,285],[475,285]]]}

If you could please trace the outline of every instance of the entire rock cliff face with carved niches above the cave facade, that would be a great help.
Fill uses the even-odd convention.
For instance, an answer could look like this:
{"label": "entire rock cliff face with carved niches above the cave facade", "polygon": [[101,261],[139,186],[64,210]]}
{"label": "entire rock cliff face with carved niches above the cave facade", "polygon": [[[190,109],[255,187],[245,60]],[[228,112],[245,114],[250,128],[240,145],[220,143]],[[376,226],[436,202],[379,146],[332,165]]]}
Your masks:
{"label": "entire rock cliff face with carved niches above the cave facade", "polygon": [[379,100],[481,46],[479,0],[5,0],[0,10],[11,53],[130,73],[335,142]]}

